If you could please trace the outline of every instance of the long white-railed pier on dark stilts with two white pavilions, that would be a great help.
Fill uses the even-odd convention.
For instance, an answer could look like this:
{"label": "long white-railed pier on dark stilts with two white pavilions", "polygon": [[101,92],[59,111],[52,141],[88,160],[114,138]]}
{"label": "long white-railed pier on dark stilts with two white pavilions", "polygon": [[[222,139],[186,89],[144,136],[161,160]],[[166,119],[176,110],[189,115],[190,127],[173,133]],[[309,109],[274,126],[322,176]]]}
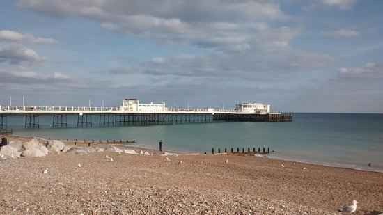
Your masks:
{"label": "long white-railed pier on dark stilts with two white pavilions", "polygon": [[117,107],[0,106],[0,132],[9,131],[10,118],[15,116],[24,118],[24,127],[31,129],[40,128],[41,117],[52,118],[49,123],[52,128],[292,121],[290,113],[272,113],[269,105],[261,106],[265,109],[252,108],[250,111],[246,109],[250,104],[241,105],[244,107],[237,105],[235,109],[185,109],[167,108],[164,103],[139,104],[136,99],[125,99],[123,106]]}

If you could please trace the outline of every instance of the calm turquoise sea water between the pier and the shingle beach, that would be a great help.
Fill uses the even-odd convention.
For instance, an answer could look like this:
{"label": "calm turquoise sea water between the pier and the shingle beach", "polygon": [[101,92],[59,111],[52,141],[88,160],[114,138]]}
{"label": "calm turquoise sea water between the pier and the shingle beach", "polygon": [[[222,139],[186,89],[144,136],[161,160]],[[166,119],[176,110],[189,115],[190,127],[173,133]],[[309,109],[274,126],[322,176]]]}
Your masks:
{"label": "calm turquoise sea water between the pier and the shingle beach", "polygon": [[[383,171],[383,114],[295,113],[293,122],[221,122],[93,128],[49,128],[52,118],[40,118],[42,129],[24,129],[13,119],[14,133],[62,139],[135,139],[138,145],[166,150],[211,152],[214,148],[269,146],[270,157]],[[70,120],[68,120],[69,122]],[[43,126],[44,127],[44,126]],[[372,167],[368,167],[372,163]]]}

